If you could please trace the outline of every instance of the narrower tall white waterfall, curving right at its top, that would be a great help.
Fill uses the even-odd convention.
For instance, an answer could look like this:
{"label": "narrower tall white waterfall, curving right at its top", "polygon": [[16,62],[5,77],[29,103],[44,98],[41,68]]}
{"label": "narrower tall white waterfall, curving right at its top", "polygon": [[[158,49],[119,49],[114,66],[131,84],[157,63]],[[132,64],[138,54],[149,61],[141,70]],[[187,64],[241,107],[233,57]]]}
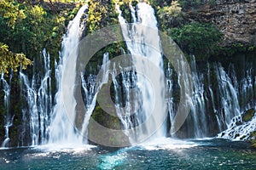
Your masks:
{"label": "narrower tall white waterfall, curving right at its top", "polygon": [[[84,27],[80,25],[80,19],[86,8],[87,4],[80,8],[75,18],[69,22],[67,35],[62,41],[61,61],[55,71],[58,92],[55,94],[56,104],[49,125],[49,144],[82,144],[79,130],[75,126],[76,99],[73,93],[79,38]],[[65,104],[64,99],[66,99]]]}

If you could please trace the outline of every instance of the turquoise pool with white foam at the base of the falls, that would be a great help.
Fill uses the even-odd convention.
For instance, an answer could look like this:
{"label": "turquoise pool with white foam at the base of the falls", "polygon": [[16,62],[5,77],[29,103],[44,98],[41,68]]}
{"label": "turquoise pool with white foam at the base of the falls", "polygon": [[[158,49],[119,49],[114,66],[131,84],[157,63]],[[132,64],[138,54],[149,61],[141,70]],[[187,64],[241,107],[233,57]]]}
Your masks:
{"label": "turquoise pool with white foam at the base of the falls", "polygon": [[0,150],[0,169],[256,169],[256,150],[250,144],[224,139],[53,149]]}

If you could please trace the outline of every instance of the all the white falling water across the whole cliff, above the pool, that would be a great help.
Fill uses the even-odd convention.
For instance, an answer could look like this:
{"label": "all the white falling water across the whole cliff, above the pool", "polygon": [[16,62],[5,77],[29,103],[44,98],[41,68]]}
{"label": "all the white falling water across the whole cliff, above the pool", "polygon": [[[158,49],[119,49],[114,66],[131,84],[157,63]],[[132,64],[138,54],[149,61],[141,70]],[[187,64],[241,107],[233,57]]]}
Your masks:
{"label": "all the white falling water across the whole cliff, above the pool", "polygon": [[[85,144],[90,116],[96,106],[96,96],[102,88],[102,84],[108,82],[108,74],[113,76],[115,109],[131,144],[164,137],[167,134],[166,131],[170,131],[171,134],[174,131],[172,125],[175,124],[174,117],[179,98],[177,94],[181,88],[189,87],[186,84],[189,82],[182,82],[182,79],[188,75],[183,71],[183,61],[179,60],[177,61],[179,74],[175,73],[170,64],[167,65],[165,82],[160,37],[154,9],[146,3],[138,3],[137,8],[130,6],[131,25],[127,24],[121,11],[117,8],[123,37],[129,54],[131,54],[131,60],[127,60],[127,62],[132,63],[133,71],[127,71],[125,67],[120,68],[120,65],[113,65],[113,72],[110,72],[108,54],[104,54],[101,66],[102,72],[105,74],[101,80],[102,84],[96,87],[95,72],[94,74],[86,72],[86,79],[84,72],[81,73],[85,112],[84,119],[81,120],[81,127],[75,126],[77,113],[77,101],[74,97],[77,77],[76,62],[79,38],[83,31],[80,19],[86,8],[86,5],[80,8],[77,16],[70,22],[67,36],[62,42],[59,65],[55,62],[57,85],[55,105],[53,105],[51,90],[52,68],[49,54],[45,49],[42,51],[41,58],[34,61],[37,65],[33,67],[32,78],[20,71],[22,125],[18,130],[20,138],[18,145],[71,144],[78,146]],[[157,69],[148,67],[148,63],[153,64]],[[38,69],[38,65],[44,65],[44,69]],[[195,86],[192,108],[186,125],[184,125],[187,127],[181,129],[183,131],[181,133],[187,134],[182,135],[182,138],[203,138],[219,133],[218,137],[221,138],[248,139],[250,133],[256,129],[256,116],[253,116],[248,122],[242,122],[241,113],[255,107],[256,77],[253,66],[247,68],[239,78],[236,75],[236,67],[232,65],[229,68],[230,71],[226,72],[222,65],[215,62],[208,63],[207,69],[202,71],[196,65],[195,56],[191,56],[190,65]],[[101,66],[98,65],[97,70],[100,70]],[[120,68],[120,74],[116,76],[115,71],[118,68]],[[96,69],[92,68],[92,70]],[[151,79],[148,81],[147,77],[150,75],[156,77],[155,82],[150,82]],[[68,82],[63,82],[63,77],[67,77]],[[9,127],[12,126],[15,117],[9,113],[10,81],[7,82],[2,75],[3,102],[6,109],[3,147],[9,145]],[[68,91],[64,91],[63,87]],[[189,89],[184,90],[189,92]],[[66,99],[65,105],[63,98]],[[67,113],[67,111],[69,112]],[[161,124],[160,121],[165,120],[167,113],[170,117],[169,125],[166,122]],[[154,119],[149,119],[149,117]],[[213,131],[212,127],[216,127],[216,130],[214,129],[214,132],[210,133],[209,131]],[[179,136],[173,134],[172,137]]]}

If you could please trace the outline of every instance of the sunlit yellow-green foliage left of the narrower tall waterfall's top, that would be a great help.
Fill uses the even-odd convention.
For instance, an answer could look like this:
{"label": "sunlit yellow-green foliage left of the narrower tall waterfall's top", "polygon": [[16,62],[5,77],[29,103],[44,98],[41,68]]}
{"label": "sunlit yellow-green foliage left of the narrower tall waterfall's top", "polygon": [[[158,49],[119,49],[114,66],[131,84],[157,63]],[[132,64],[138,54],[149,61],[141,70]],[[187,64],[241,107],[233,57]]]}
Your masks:
{"label": "sunlit yellow-green foliage left of the narrower tall waterfall's top", "polygon": [[[78,8],[70,6],[71,8],[56,13],[54,9],[43,8],[39,4],[32,5],[30,1],[5,2],[7,3],[0,3],[1,41],[9,44],[11,51],[24,53],[30,59],[39,56],[43,48],[47,48],[52,57],[58,56],[65,24]],[[3,4],[6,8],[3,8]],[[6,14],[6,11],[11,14]]]}

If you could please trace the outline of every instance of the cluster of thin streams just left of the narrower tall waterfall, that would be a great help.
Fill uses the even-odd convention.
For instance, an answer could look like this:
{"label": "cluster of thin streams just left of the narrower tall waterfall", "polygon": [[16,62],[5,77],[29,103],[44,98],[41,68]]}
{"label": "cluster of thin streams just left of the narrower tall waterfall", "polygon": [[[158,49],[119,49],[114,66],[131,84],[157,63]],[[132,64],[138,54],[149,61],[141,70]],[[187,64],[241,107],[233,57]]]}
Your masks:
{"label": "cluster of thin streams just left of the narrower tall waterfall", "polygon": [[[49,116],[52,107],[51,68],[49,54],[45,49],[41,55],[43,62],[39,61],[39,65],[44,66],[41,74],[43,76],[33,72],[32,81],[30,81],[26,74],[20,71],[20,91],[26,103],[22,109],[21,145],[24,145],[24,140],[26,140],[24,134],[27,129],[30,131],[32,145],[45,144],[48,140]],[[29,119],[29,122],[26,119]]]}

